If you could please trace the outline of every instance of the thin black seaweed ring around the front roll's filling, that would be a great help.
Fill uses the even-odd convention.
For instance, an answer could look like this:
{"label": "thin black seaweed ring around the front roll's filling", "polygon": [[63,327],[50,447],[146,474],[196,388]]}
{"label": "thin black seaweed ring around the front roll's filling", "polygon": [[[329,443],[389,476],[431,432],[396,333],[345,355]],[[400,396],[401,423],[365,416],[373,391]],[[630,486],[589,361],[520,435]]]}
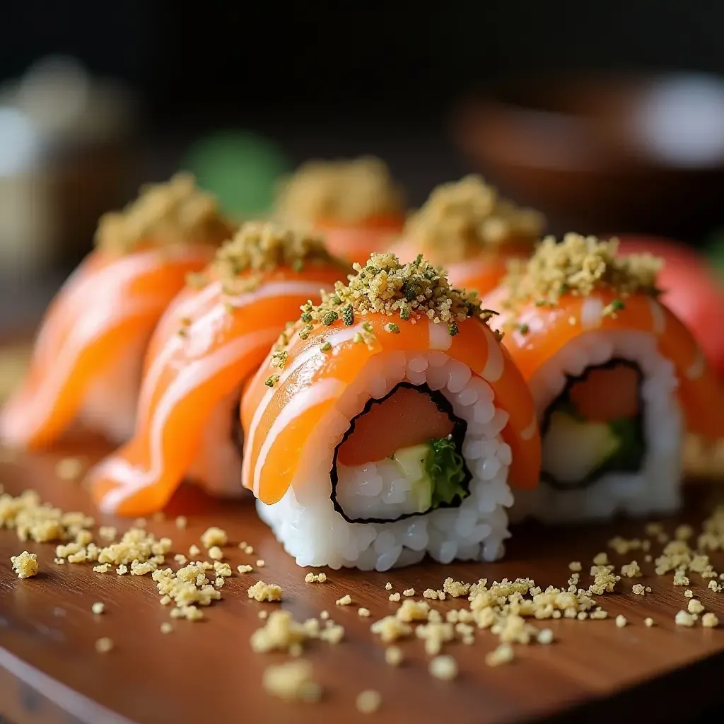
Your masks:
{"label": "thin black seaweed ring around the front roll's filling", "polygon": [[[424,513],[405,513],[405,515],[400,515],[398,518],[349,518],[348,515],[345,515],[345,511],[342,510],[342,506],[339,502],[337,502],[337,455],[340,452],[340,447],[342,447],[348,437],[355,432],[355,422],[357,419],[366,415],[366,413],[369,413],[372,409],[372,405],[384,403],[384,400],[387,400],[388,397],[392,397],[392,395],[394,395],[400,387],[409,387],[411,390],[417,390],[418,392],[424,392],[426,395],[429,395],[430,400],[432,400],[437,409],[440,412],[444,412],[447,417],[450,418],[450,422],[452,422],[452,432],[450,433],[450,437],[452,437],[452,442],[455,443],[455,450],[457,450],[460,457],[463,458],[463,441],[465,440],[466,432],[468,432],[468,423],[455,415],[455,412],[452,410],[450,400],[448,400],[442,392],[439,392],[438,390],[430,390],[427,384],[417,385],[412,384],[411,382],[400,382],[399,384],[396,384],[390,392],[387,392],[387,395],[384,395],[384,397],[380,397],[379,399],[372,397],[370,400],[367,400],[367,404],[364,406],[363,411],[361,411],[358,415],[355,415],[350,420],[350,426],[347,432],[345,432],[345,436],[342,437],[342,442],[334,448],[332,470],[329,472],[329,476],[332,479],[332,504],[334,505],[334,510],[342,515],[342,518],[344,518],[348,523],[395,523],[395,521],[402,521],[405,518],[413,518],[415,515],[427,515],[427,513],[430,512],[429,510],[426,510]],[[460,503],[468,497],[470,494],[470,481],[473,476],[468,470],[468,464],[466,463],[465,458],[463,458],[463,471],[465,473],[465,478],[463,479],[462,487],[465,489],[466,494],[462,499],[459,497],[456,498],[454,502],[441,503],[434,510],[439,510],[439,508],[459,508]]]}

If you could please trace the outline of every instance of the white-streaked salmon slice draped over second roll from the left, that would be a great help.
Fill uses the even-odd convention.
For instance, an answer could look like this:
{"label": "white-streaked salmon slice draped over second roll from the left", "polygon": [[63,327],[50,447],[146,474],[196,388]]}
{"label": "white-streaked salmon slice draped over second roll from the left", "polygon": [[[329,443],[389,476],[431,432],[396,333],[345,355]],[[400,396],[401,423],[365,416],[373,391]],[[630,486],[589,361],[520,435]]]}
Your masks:
{"label": "white-streaked salmon slice draped over second roll from the left", "polygon": [[[230,395],[256,371],[300,305],[319,300],[319,290],[331,289],[339,277],[336,264],[309,264],[303,271],[266,272],[254,290],[237,296],[227,295],[218,280],[181,292],[149,346],[134,437],[90,473],[101,510],[131,516],[160,510],[192,469],[218,492],[218,481],[204,480],[199,463],[219,455],[220,442],[209,439],[206,425],[219,406],[232,406]],[[231,435],[231,415],[228,427]]]}

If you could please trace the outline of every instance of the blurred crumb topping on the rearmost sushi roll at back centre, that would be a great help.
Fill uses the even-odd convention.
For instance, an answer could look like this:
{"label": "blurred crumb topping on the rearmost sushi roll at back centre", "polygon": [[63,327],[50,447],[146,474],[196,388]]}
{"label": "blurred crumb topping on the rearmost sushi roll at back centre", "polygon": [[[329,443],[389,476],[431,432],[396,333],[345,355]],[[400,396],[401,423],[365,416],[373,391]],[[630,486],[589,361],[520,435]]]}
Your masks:
{"label": "blurred crumb topping on the rearmost sushi roll at back centre", "polygon": [[400,188],[384,161],[308,161],[282,182],[277,209],[294,222],[320,220],[354,224],[374,216],[403,213]]}

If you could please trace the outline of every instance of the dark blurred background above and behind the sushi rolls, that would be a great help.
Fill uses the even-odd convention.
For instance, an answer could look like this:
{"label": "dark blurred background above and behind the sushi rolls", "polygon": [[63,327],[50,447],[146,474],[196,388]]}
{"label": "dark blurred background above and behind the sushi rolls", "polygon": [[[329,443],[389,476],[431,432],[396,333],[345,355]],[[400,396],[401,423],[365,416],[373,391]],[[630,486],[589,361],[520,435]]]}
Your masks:
{"label": "dark blurred background above and behind the sushi rolls", "polygon": [[37,319],[98,216],[179,167],[269,209],[311,157],[381,156],[410,206],[481,172],[553,232],[719,265],[724,4],[6,0],[0,325]]}

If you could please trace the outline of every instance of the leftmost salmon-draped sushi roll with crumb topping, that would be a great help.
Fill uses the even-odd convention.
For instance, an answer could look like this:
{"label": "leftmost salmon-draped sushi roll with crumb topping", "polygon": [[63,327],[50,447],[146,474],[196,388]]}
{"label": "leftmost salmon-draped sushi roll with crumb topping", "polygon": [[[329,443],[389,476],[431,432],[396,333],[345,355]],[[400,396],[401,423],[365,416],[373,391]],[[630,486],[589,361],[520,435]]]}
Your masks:
{"label": "leftmost salmon-draped sushi roll with crumb topping", "polygon": [[0,442],[47,447],[77,422],[127,439],[153,328],[229,235],[215,199],[188,174],[103,216],[94,250],[46,312],[28,374],[0,414]]}

